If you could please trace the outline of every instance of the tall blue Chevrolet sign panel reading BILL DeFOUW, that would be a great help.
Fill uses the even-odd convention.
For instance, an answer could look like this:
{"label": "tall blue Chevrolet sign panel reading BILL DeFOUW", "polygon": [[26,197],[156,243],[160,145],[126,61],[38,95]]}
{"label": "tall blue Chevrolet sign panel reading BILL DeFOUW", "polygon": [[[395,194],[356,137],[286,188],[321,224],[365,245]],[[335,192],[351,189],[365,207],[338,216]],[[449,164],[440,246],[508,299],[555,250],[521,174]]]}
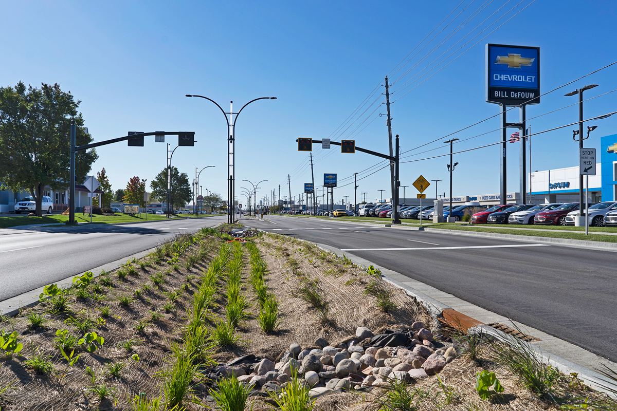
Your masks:
{"label": "tall blue Chevrolet sign panel reading BILL DeFOUW", "polygon": [[540,47],[486,45],[486,101],[540,102]]}

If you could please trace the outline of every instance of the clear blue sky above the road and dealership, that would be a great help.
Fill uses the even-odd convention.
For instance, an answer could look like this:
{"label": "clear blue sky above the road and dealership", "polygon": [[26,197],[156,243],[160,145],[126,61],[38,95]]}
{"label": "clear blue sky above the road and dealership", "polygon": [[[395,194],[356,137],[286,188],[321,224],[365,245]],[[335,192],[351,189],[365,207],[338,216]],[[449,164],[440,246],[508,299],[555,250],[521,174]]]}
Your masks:
{"label": "clear blue sky above the road and dealership", "polygon": [[[386,75],[402,152],[437,140],[405,153],[402,161],[409,161],[448,153],[443,141],[452,137],[461,139],[455,151],[499,141],[498,117],[445,138],[499,112],[484,102],[486,43],[539,46],[542,92],[617,60],[611,1],[4,1],[2,14],[2,86],[59,83],[81,100],[94,141],[128,131],[195,131],[195,147],[176,150],[173,165],[191,181],[196,167],[214,165],[201,174],[204,195],[209,189],[226,197],[226,123],[215,105],[184,95],[210,97],[225,111],[230,100],[237,111],[249,100],[276,96],[247,106],[236,125],[241,202],[246,199],[240,187],[250,187],[242,179],[268,180],[258,198],[273,189],[278,195],[279,185],[289,195],[290,174],[292,197],[302,193],[310,166],[308,153],[297,152],[298,137],[350,138],[387,153],[386,117],[379,116],[385,113],[379,86]],[[577,121],[576,105],[533,117],[576,103],[563,94],[586,84],[600,84],[586,91],[586,99],[610,94],[586,102],[585,118],[617,111],[617,92],[611,92],[616,74],[617,65],[542,97],[528,108],[532,132]],[[512,113],[508,121],[518,120]],[[599,149],[601,136],[617,132],[616,121],[613,116],[589,123],[598,128],[586,147]],[[532,137],[532,168],[576,165],[574,128]],[[99,147],[92,174],[106,168],[114,189],[132,176],[151,181],[165,168],[166,148],[153,137],[144,147]],[[324,173],[337,173],[339,186],[351,184],[335,189],[335,198],[353,201],[354,184],[345,178],[358,173],[358,201],[361,192],[368,193],[366,200],[379,198],[379,189],[390,197],[389,169],[370,168],[378,158],[336,149],[313,147],[315,185]],[[454,195],[499,193],[499,152],[495,145],[455,155]],[[518,143],[508,144],[507,158],[512,192],[518,190]],[[401,184],[411,186],[423,174],[442,180],[443,193],[447,162],[440,157],[402,163]],[[429,197],[432,190],[434,185]],[[415,194],[406,189],[407,197]]]}

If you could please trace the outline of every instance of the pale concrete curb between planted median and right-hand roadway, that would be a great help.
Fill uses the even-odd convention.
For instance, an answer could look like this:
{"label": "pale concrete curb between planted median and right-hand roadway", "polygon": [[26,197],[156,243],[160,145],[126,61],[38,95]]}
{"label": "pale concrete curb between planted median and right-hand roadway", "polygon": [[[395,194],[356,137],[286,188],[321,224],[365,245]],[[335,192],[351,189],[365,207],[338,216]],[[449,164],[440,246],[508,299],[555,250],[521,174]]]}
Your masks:
{"label": "pale concrete curb between planted median and right-hand roadway", "polygon": [[[484,233],[484,234],[489,234],[489,233]],[[490,233],[490,234],[493,234],[493,233]],[[512,236],[512,237],[521,237],[521,236]],[[302,240],[301,238],[296,238],[296,240],[309,242],[307,240]],[[312,242],[309,242],[309,243],[312,243]],[[319,246],[323,250],[330,251],[331,253],[337,254],[338,256],[346,255],[346,257],[349,258],[351,261],[353,261],[355,264],[359,264],[365,267],[372,265],[378,268],[381,271],[383,275],[383,279],[386,282],[391,283],[395,287],[398,287],[404,290],[408,296],[412,297],[416,302],[420,303],[421,306],[423,306],[426,309],[426,311],[428,311],[429,315],[431,315],[431,318],[433,319],[433,324],[431,325],[434,328],[439,328],[442,326],[440,319],[443,319],[444,317],[444,310],[448,310],[449,314],[452,314],[452,313],[454,313],[454,315],[460,314],[462,317],[471,319],[471,317],[467,317],[466,315],[455,311],[455,309],[448,306],[447,304],[444,304],[441,301],[434,299],[431,296],[428,296],[422,293],[421,291],[418,291],[415,288],[410,287],[400,282],[399,280],[392,278],[392,277],[397,277],[397,276],[402,275],[398,272],[389,270],[385,267],[381,267],[378,264],[373,264],[366,259],[355,256],[354,254],[350,254],[350,253],[344,254],[341,250],[334,248],[332,246],[328,246],[328,245],[320,244],[320,243],[313,243],[313,244]],[[478,320],[474,320],[474,319],[471,319],[471,320],[476,322],[476,324],[480,324],[476,327],[471,327],[469,329],[469,332],[471,333],[480,333],[481,335],[490,335],[490,336],[493,336],[494,338],[498,338],[499,340],[503,340],[503,341],[509,341],[512,338],[515,338],[500,330],[496,330],[495,328],[484,325],[482,324],[482,322]],[[530,351],[535,352],[542,362],[545,362],[547,364],[552,365],[553,367],[558,368],[560,372],[564,373],[565,375],[568,375],[569,373],[577,373],[578,378],[584,381],[586,385],[590,386],[596,391],[601,391],[603,393],[607,393],[611,397],[617,398],[617,381],[613,381],[607,376],[602,375],[601,373],[595,372],[594,370],[590,370],[589,368],[583,367],[582,365],[576,364],[574,362],[571,362],[570,360],[567,360],[565,358],[552,354],[551,352],[545,349],[539,348],[537,346],[534,346],[531,343],[527,343],[523,340],[520,340],[520,343],[524,344],[524,346],[526,346]]]}

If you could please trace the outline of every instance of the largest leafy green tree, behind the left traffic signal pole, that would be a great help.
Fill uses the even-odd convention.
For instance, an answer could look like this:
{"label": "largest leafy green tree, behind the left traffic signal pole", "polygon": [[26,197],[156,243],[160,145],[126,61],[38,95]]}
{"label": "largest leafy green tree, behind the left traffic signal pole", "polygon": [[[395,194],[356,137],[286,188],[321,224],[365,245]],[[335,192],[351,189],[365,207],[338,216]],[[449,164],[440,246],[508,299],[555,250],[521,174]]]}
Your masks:
{"label": "largest leafy green tree, behind the left traffic signal pole", "polygon": [[[77,125],[76,144],[92,142],[77,112],[80,103],[57,83],[0,87],[0,181],[16,192],[30,190],[37,216],[44,187],[63,189],[70,181],[71,120]],[[84,181],[97,158],[96,150],[76,153],[76,181]]]}

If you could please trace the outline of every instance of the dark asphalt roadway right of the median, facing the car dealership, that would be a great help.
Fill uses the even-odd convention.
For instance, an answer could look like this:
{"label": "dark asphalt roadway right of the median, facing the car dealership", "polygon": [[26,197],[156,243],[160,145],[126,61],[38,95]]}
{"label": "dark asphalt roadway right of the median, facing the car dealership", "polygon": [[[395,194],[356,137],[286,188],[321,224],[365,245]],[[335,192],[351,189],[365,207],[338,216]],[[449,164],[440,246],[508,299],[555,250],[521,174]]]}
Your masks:
{"label": "dark asphalt roadway right of the median, facing the car dealership", "polygon": [[244,224],[322,243],[617,362],[617,254],[315,218]]}

